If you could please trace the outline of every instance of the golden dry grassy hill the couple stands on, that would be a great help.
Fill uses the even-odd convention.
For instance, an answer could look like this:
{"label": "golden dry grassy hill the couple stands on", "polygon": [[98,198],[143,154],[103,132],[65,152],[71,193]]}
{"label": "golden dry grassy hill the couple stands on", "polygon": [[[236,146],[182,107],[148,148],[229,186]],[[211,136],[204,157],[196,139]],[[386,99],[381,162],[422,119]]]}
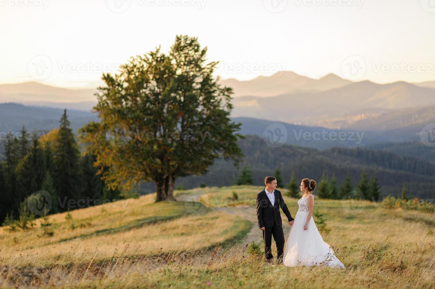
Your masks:
{"label": "golden dry grassy hill the couple stands on", "polygon": [[[315,196],[315,211],[319,209],[331,229],[330,233],[322,233],[323,238],[334,246],[346,269],[270,265],[264,262],[261,252],[258,256],[251,254],[247,246],[262,238],[252,206],[261,189],[196,188],[177,191],[179,202],[153,203],[155,195],[151,194],[72,211],[69,221],[66,213],[57,214],[50,216],[52,237],[37,237],[42,232],[39,220],[35,222],[37,227],[27,232],[9,233],[0,228],[0,286],[435,286],[433,213],[391,208],[388,203],[349,203]],[[297,199],[285,197],[286,191],[281,191],[295,216]],[[231,199],[233,192],[238,195],[237,201]],[[70,222],[77,222],[78,228],[69,229]],[[287,238],[290,226],[285,222],[283,225]],[[274,242],[272,246],[276,255]]]}

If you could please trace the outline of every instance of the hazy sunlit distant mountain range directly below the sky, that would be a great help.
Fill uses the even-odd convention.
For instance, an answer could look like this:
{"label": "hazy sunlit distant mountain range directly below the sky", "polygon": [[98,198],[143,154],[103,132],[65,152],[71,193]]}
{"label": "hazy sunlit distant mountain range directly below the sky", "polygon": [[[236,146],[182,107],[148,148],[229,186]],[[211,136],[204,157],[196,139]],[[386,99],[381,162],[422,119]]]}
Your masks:
{"label": "hazy sunlit distant mountain range directly below the sky", "polygon": [[[435,81],[378,84],[351,82],[335,74],[318,80],[291,71],[253,80],[220,80],[234,89],[233,117],[274,120],[330,129],[376,130],[415,125],[433,119]],[[41,83],[0,85],[0,103],[15,102],[91,110],[96,89],[66,89]],[[418,114],[418,118],[412,115]],[[424,115],[424,120],[420,116]],[[385,120],[387,120],[385,122]],[[418,124],[419,125],[419,124]],[[384,130],[384,128],[382,130]]]}

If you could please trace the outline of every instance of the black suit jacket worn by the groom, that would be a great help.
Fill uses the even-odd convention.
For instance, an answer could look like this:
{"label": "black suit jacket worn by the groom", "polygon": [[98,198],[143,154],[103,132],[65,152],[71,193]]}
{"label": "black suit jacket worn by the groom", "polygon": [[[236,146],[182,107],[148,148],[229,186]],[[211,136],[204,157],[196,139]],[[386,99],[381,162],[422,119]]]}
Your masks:
{"label": "black suit jacket worn by the groom", "polygon": [[282,226],[281,212],[279,207],[281,207],[285,216],[287,216],[288,221],[294,220],[291,217],[290,211],[287,205],[284,203],[281,192],[277,189],[274,190],[275,203],[272,205],[268,196],[266,195],[265,189],[262,190],[257,195],[257,219],[258,227],[261,229],[263,227],[271,227],[275,222],[277,226]]}

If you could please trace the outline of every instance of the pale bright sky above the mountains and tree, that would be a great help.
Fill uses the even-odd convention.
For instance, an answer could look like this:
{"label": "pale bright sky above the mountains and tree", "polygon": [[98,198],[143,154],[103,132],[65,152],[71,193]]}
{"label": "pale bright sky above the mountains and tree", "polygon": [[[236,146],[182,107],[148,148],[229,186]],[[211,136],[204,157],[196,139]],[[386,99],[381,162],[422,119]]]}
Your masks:
{"label": "pale bright sky above the mountains and tree", "polygon": [[435,80],[434,0],[0,0],[0,27],[0,83],[96,86],[177,34],[224,79]]}

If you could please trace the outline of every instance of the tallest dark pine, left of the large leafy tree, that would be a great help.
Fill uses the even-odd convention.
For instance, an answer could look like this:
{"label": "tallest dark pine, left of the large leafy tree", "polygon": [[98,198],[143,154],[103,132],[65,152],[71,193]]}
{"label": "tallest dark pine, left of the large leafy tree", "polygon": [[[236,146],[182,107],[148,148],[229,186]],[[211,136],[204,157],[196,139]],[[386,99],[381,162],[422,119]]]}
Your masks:
{"label": "tallest dark pine, left of the large leafy tree", "polygon": [[[67,110],[60,119],[53,153],[53,177],[60,201],[80,198],[80,151],[70,129]],[[64,210],[61,208],[61,211]]]}

